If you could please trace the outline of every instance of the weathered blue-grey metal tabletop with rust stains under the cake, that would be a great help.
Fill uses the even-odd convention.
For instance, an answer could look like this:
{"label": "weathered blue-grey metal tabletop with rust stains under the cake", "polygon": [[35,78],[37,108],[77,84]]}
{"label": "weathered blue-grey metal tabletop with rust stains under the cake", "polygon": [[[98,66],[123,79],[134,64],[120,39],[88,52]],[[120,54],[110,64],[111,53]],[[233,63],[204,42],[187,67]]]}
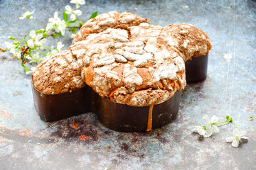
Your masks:
{"label": "weathered blue-grey metal tabletop with rust stains under the cake", "polygon": [[[23,11],[35,10],[34,21],[42,28],[68,3],[0,0],[0,47],[8,35],[21,38],[33,29],[28,20],[18,20]],[[129,11],[154,25],[201,28],[213,44],[206,81],[188,84],[178,118],[151,132],[114,132],[93,113],[46,123],[33,107],[31,78],[18,60],[2,53],[0,169],[256,169],[255,1],[86,1],[81,9],[83,19],[94,11]],[[71,40],[67,36],[63,42],[68,47]],[[248,142],[238,148],[225,142],[233,124],[206,139],[193,134],[204,114],[223,121],[231,115],[247,131]]]}

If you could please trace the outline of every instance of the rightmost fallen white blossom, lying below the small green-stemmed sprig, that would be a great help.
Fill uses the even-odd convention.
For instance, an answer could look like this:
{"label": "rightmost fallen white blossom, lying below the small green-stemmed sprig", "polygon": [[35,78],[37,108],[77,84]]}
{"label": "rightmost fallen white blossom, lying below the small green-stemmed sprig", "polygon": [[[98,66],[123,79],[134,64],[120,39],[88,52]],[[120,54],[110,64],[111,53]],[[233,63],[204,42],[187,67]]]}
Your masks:
{"label": "rightmost fallen white blossom, lying below the small green-stemmed sprig", "polygon": [[226,142],[232,142],[233,147],[238,147],[239,143],[242,143],[241,139],[248,139],[248,137],[245,137],[246,131],[245,130],[238,130],[238,128],[235,128],[233,130],[233,137],[227,137]]}

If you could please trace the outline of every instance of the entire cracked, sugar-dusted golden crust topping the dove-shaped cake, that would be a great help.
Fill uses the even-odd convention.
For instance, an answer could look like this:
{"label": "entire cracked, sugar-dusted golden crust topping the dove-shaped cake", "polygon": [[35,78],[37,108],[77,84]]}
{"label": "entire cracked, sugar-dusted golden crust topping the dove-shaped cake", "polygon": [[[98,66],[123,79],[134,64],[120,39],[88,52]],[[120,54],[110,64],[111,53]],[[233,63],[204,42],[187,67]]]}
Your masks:
{"label": "entire cracked, sugar-dusted golden crust topping the dove-shaped cake", "polygon": [[132,13],[103,13],[82,26],[68,50],[39,64],[32,80],[44,94],[87,84],[111,101],[150,106],[183,89],[184,63],[210,48],[206,33],[188,24],[163,28]]}

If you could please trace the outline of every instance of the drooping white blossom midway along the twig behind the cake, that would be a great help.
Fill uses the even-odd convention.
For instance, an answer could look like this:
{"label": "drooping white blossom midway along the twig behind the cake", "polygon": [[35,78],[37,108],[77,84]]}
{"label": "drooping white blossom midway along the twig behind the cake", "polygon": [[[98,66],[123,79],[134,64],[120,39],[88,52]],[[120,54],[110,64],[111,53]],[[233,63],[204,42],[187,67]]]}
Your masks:
{"label": "drooping white blossom midway along the twig behind the cake", "polygon": [[61,35],[65,35],[65,28],[66,28],[66,23],[64,20],[61,20],[58,17],[58,12],[55,12],[53,15],[53,18],[49,18],[49,23],[46,26],[46,31],[51,30],[55,25],[55,30],[56,32],[60,33]]}

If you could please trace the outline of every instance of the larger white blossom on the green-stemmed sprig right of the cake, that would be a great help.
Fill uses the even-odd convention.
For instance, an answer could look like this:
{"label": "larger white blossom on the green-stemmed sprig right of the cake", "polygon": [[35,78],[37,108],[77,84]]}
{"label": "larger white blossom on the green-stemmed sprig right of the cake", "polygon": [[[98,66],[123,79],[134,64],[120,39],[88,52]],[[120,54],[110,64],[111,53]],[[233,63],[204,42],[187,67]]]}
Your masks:
{"label": "larger white blossom on the green-stemmed sprig right of the cake", "polygon": [[213,123],[218,122],[218,117],[216,115],[213,115],[211,118],[209,118],[208,115],[203,115],[203,120],[207,123],[206,133],[203,137],[210,137],[213,134],[213,131],[220,132],[219,128],[216,125],[213,125]]}

